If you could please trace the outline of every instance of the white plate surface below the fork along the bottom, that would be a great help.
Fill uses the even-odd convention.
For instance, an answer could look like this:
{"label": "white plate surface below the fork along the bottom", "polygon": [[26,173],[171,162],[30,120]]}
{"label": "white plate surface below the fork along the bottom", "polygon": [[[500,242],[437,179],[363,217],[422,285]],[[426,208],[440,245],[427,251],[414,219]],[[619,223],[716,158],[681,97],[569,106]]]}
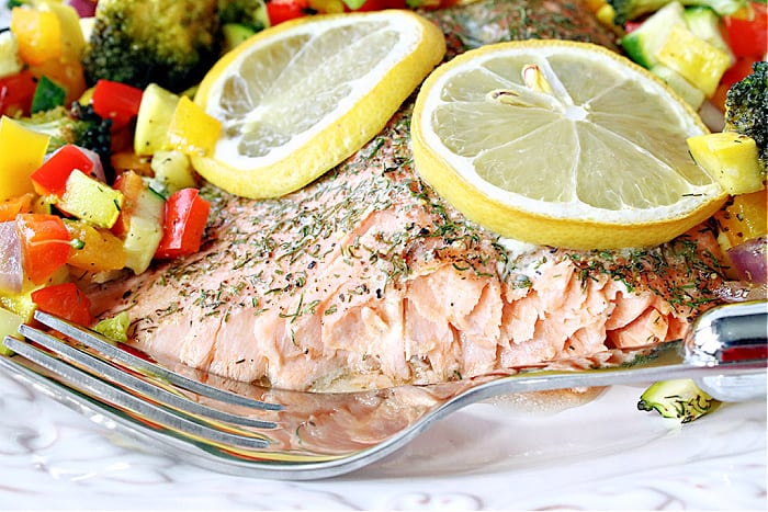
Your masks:
{"label": "white plate surface below the fork along the bottom", "polygon": [[0,371],[0,508],[174,510],[766,510],[766,403],[686,425],[641,412],[643,387],[522,413],[479,403],[345,477],[212,473],[135,442]]}

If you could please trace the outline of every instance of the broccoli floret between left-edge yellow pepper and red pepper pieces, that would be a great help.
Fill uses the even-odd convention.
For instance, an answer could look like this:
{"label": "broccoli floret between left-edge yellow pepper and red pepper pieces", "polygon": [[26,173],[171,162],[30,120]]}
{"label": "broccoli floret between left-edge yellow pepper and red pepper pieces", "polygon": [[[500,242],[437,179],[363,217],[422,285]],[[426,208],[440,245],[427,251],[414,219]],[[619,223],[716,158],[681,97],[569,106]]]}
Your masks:
{"label": "broccoli floret between left-edge yellow pepper and red pepper pieces", "polygon": [[47,152],[74,144],[98,153],[104,170],[111,169],[112,120],[102,118],[92,105],[74,102],[69,109],[57,106],[16,121],[29,129],[50,136]]}

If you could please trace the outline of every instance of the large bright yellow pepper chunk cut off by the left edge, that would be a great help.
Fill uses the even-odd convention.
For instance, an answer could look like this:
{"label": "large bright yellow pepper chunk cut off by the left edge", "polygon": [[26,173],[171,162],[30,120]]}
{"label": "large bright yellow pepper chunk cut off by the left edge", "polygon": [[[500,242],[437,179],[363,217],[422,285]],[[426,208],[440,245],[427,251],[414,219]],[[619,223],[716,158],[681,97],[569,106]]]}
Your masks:
{"label": "large bright yellow pepper chunk cut off by the left edge", "polygon": [[32,132],[2,116],[0,120],[0,201],[34,192],[30,174],[43,164],[47,135]]}

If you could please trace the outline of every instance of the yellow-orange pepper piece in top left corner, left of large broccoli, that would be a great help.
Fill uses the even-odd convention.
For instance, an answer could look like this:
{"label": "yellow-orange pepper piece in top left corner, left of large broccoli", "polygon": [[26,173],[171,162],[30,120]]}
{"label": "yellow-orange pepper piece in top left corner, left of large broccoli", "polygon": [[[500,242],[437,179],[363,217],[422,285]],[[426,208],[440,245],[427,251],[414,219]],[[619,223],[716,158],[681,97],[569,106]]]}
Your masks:
{"label": "yellow-orange pepper piece in top left corner, left of large broccoli", "polygon": [[19,55],[31,66],[38,66],[64,55],[61,23],[52,11],[13,8],[11,32],[16,36]]}

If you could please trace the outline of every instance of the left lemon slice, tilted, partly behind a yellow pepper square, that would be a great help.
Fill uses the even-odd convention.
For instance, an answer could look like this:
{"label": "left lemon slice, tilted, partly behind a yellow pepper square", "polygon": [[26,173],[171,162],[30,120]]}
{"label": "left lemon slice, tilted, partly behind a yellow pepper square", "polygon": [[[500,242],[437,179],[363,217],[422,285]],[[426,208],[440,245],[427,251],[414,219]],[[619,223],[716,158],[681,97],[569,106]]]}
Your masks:
{"label": "left lemon slice, tilted, partly behind a yellow pepper square", "polygon": [[307,16],[225,55],[195,94],[223,132],[192,158],[206,180],[261,198],[295,191],[360,149],[445,53],[408,11]]}

